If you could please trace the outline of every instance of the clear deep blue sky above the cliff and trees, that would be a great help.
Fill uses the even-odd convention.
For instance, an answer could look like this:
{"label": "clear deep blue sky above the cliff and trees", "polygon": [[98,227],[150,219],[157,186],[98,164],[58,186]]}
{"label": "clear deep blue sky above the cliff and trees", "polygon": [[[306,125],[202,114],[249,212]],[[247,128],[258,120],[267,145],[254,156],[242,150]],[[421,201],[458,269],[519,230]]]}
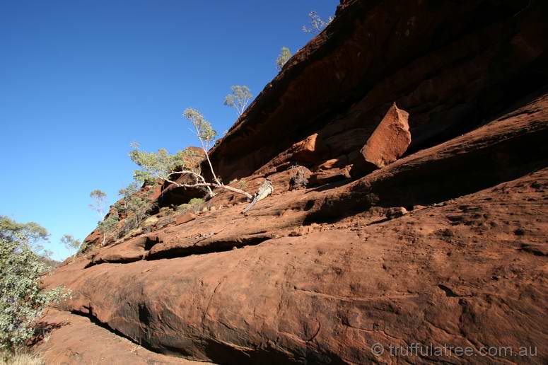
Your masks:
{"label": "clear deep blue sky above the cliff and trees", "polygon": [[97,224],[91,190],[132,180],[129,143],[195,145],[181,117],[192,106],[218,132],[235,121],[230,86],[257,95],[282,46],[310,37],[308,12],[337,0],[0,0],[0,214],[59,238]]}

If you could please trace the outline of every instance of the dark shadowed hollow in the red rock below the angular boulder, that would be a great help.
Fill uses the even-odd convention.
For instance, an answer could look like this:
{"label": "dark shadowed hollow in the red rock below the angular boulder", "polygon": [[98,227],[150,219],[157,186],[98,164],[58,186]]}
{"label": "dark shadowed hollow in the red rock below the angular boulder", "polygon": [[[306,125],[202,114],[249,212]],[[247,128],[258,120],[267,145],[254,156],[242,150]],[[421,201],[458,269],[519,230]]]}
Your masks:
{"label": "dark shadowed hollow in the red rock below the angular boulder", "polygon": [[[545,168],[548,115],[536,108],[545,100],[548,95],[527,104],[518,114],[501,117],[482,129],[377,170],[351,183],[351,191],[343,195],[333,192],[304,224],[337,221],[375,205],[435,204]],[[520,122],[520,127],[508,129]]]}

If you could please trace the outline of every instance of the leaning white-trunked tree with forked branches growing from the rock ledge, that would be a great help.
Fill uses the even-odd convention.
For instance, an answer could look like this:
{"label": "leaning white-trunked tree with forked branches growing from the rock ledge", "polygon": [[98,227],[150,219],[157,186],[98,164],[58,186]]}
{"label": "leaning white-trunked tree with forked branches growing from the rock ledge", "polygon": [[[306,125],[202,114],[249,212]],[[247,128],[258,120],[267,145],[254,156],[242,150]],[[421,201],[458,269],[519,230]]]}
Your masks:
{"label": "leaning white-trunked tree with forked branches growing from the rock ledge", "polygon": [[[221,188],[229,190],[237,194],[245,195],[247,199],[252,199],[252,195],[244,190],[240,190],[236,187],[224,185],[221,180],[217,178],[215,174],[211,160],[209,159],[209,148],[213,143],[216,132],[211,127],[211,124],[205,120],[204,116],[195,109],[187,108],[182,115],[194,127],[196,136],[198,137],[202,149],[204,150],[206,161],[211,170],[211,176],[214,182],[206,182],[206,179],[202,175],[199,164],[192,163],[192,158],[195,154],[190,149],[179,151],[175,155],[170,155],[167,150],[159,149],[157,153],[139,151],[138,144],[132,144],[134,149],[129,153],[129,158],[141,168],[136,170],[134,176],[139,180],[152,180],[160,178],[161,180],[170,182],[178,187],[201,187],[206,190],[209,196],[213,196],[214,192],[212,188]],[[180,183],[175,180],[175,176],[187,175],[191,178],[192,182]],[[173,180],[175,179],[175,180]]]}

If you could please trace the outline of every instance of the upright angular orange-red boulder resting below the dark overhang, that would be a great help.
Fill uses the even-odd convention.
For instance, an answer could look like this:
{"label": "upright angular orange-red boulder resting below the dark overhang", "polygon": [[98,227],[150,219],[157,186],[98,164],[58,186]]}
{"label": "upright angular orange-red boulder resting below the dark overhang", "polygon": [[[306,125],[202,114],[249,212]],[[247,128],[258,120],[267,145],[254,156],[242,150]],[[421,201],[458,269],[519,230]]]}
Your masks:
{"label": "upright angular orange-red boulder resting below the dark overhang", "polygon": [[403,156],[411,144],[409,113],[392,104],[360,150],[366,162],[383,168]]}

